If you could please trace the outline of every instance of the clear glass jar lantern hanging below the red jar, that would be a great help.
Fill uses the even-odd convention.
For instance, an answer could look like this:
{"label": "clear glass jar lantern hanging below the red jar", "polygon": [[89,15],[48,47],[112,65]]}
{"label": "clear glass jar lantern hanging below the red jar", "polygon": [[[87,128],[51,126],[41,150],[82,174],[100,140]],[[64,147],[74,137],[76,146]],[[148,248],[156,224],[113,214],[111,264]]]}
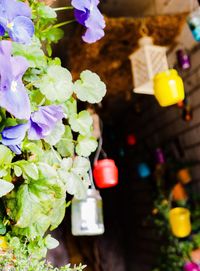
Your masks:
{"label": "clear glass jar lantern hanging below the red jar", "polygon": [[102,198],[99,192],[88,189],[87,197],[72,200],[72,234],[75,236],[104,233]]}

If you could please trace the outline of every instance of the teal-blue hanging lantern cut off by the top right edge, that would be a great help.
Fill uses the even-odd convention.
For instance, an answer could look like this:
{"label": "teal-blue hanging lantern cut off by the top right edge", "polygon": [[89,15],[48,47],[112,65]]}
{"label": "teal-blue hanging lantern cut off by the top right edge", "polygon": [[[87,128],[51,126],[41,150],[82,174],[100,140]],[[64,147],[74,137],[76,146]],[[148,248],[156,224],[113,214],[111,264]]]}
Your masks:
{"label": "teal-blue hanging lantern cut off by the top right edge", "polygon": [[[200,1],[198,1],[200,3]],[[187,18],[189,28],[196,41],[200,41],[200,7],[190,13]]]}

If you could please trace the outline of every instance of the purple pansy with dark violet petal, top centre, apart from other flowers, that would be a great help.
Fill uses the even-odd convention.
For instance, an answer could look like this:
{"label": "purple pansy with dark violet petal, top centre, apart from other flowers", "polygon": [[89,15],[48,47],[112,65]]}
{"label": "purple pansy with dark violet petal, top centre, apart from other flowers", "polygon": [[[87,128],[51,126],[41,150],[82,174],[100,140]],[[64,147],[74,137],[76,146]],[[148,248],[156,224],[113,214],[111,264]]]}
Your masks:
{"label": "purple pansy with dark violet petal, top centre, apart from other flowers", "polygon": [[93,43],[104,36],[105,20],[98,9],[99,0],[72,0],[74,15],[87,30],[82,36],[87,43]]}

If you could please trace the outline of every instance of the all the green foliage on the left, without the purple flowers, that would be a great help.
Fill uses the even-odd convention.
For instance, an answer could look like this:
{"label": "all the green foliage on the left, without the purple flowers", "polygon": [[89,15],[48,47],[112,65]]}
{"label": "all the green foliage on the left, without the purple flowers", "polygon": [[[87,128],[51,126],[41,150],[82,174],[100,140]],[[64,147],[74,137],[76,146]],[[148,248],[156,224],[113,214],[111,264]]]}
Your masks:
{"label": "all the green foliage on the left, without the purple flowers", "polygon": [[[58,269],[44,261],[47,249],[58,245],[46,232],[62,222],[70,205],[67,193],[78,199],[86,196],[90,185],[87,157],[95,151],[97,142],[92,137],[92,117],[86,110],[78,112],[77,99],[99,103],[106,86],[88,70],[73,83],[60,59],[51,57],[52,43],[64,34],[55,10],[43,1],[27,2],[35,35],[29,45],[13,42],[12,52],[29,63],[23,84],[32,112],[40,106],[60,105],[64,118],[41,140],[30,141],[26,135],[21,155],[0,145],[0,238],[6,236],[9,247],[0,253],[0,267],[13,271],[80,271],[84,266]],[[23,123],[0,108],[0,132]]]}

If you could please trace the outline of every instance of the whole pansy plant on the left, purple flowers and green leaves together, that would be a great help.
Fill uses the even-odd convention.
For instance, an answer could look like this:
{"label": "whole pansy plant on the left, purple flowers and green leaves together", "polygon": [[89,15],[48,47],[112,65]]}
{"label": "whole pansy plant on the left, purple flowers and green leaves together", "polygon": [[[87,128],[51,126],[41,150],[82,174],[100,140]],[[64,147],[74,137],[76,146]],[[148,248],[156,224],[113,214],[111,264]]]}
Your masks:
{"label": "whole pansy plant on the left, purple flowers and green leaves together", "polygon": [[90,184],[87,157],[97,142],[92,117],[77,111],[76,99],[99,103],[106,86],[88,70],[73,82],[60,59],[51,57],[51,45],[63,37],[60,27],[72,22],[57,23],[56,11],[74,8],[87,28],[85,42],[100,39],[105,23],[98,1],[73,0],[72,6],[0,2],[1,270],[58,270],[44,260],[47,249],[58,246],[46,232],[62,222],[66,192],[82,199]]}

